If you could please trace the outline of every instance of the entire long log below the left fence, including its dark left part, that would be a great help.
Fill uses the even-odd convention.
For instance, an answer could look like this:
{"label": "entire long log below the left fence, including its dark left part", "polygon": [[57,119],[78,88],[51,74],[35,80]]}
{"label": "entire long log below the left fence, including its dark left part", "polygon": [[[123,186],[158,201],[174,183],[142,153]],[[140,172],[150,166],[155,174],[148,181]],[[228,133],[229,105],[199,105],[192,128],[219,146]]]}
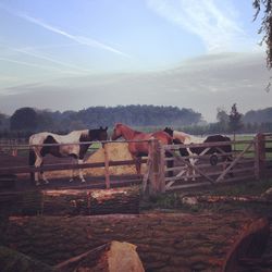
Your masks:
{"label": "entire long log below the left fence, including its dark left part", "polygon": [[139,188],[1,194],[0,209],[8,215],[138,214]]}

